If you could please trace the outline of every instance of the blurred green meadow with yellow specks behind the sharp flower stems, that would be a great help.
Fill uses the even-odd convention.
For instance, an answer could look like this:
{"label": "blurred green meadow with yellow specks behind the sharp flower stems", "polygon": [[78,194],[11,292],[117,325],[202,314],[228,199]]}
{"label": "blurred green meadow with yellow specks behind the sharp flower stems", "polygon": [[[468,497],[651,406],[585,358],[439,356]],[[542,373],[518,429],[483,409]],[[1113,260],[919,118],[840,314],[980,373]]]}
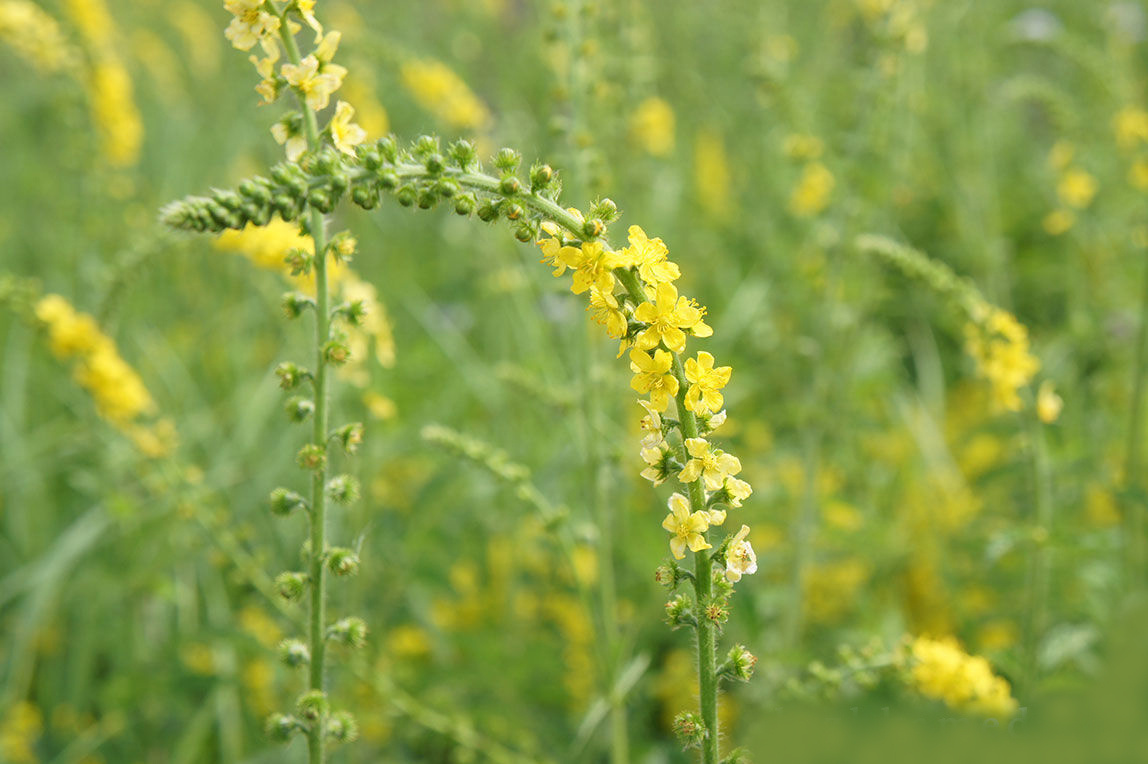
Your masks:
{"label": "blurred green meadow with yellow specks behind the sharp flower stems", "polygon": [[[279,161],[282,108],[256,108],[222,2],[102,9],[0,0],[0,761],[302,761],[262,724],[301,686],[273,657],[300,613],[269,592],[303,528],[266,496],[302,483],[272,369],[304,359],[309,329],[282,320],[288,281],[258,254],[156,223]],[[618,203],[615,239],[661,236],[708,306],[760,563],[723,638],[760,658],[723,699],[730,740],[768,761],[794,709],[951,717],[890,668],[906,634],[987,657],[1029,715],[1116,661],[1145,583],[1141,2],[318,13],[372,138],[550,162],[568,204]],[[638,477],[615,348],[502,227],[390,203],[334,217],[387,317],[336,393],[367,437],[340,467],[363,500],[333,521],[363,571],[332,601],[373,636],[332,672],[363,732],[334,761],[605,761],[619,676],[631,759],[690,761],[668,725],[693,703],[692,645],[660,622],[665,496]],[[994,407],[959,317],[862,233],[1013,311],[1060,416],[1037,416],[1035,384],[1021,412]],[[53,353],[28,311],[40,290],[115,340],[154,399],[152,441]],[[490,463],[424,438],[432,423]],[[507,460],[529,477],[499,478]],[[568,513],[573,567],[523,481]]]}

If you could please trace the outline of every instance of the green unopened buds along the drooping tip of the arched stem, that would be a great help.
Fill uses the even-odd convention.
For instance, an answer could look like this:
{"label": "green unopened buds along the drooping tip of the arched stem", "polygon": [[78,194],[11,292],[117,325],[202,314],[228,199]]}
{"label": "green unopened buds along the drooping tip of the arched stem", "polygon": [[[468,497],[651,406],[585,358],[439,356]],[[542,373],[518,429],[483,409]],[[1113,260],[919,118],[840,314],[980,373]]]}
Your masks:
{"label": "green unopened buds along the drooping tip of the arched stem", "polygon": [[[343,198],[372,210],[385,194],[403,206],[432,209],[449,205],[456,213],[484,223],[505,220],[519,241],[538,237],[544,220],[552,219],[561,190],[558,173],[534,164],[521,173],[521,155],[510,148],[492,158],[495,172],[483,171],[474,146],[466,140],[442,148],[439,138],[422,135],[409,147],[394,138],[362,145],[349,156],[332,147],[303,155],[298,162],[274,165],[270,177],[255,177],[234,189],[209,196],[188,196],[161,211],[166,225],[184,231],[218,233],[246,225],[266,225],[273,217],[298,221],[307,231],[309,210],[326,213]],[[603,200],[582,223],[582,234],[595,239],[618,218],[618,208]],[[305,254],[296,254],[293,270],[310,270]],[[285,311],[307,309],[305,301],[285,303]]]}

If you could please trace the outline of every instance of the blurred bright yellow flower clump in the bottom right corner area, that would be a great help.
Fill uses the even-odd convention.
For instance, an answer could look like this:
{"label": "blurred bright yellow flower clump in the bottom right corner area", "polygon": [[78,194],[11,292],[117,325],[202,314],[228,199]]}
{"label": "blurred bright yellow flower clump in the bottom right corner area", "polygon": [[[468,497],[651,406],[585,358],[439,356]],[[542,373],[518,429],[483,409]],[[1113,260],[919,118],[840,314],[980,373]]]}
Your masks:
{"label": "blurred bright yellow flower clump in the bottom right corner area", "polygon": [[909,647],[910,672],[917,692],[949,708],[991,717],[1016,712],[1008,681],[995,676],[988,661],[965,653],[952,637],[917,637]]}

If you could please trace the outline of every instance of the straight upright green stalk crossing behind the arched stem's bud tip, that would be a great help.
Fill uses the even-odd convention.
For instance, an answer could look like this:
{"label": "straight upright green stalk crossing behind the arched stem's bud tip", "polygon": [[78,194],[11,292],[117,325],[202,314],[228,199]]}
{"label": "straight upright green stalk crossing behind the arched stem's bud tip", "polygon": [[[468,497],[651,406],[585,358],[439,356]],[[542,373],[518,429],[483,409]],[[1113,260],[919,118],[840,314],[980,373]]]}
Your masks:
{"label": "straight upright green stalk crossing behind the arched stem's bud tip", "polygon": [[[295,65],[300,65],[298,46],[295,37],[288,31],[287,20],[284,17],[279,26],[279,36],[284,41],[287,59]],[[319,127],[315,112],[307,106],[307,101],[298,99],[300,110],[303,112],[303,132],[307,137],[307,145],[310,150],[319,148]],[[326,483],[327,483],[327,420],[329,391],[327,390],[327,360],[324,345],[331,336],[331,295],[327,288],[327,232],[323,213],[311,208],[310,234],[315,242],[315,414],[312,420],[311,442],[324,450],[324,459],[318,469],[311,476],[311,560],[310,560],[310,584],[311,584],[311,611],[310,611],[310,649],[311,664],[308,687],[312,691],[324,692],[324,675],[326,669],[326,619],[327,619],[327,591],[326,569],[324,568],[324,553],[327,544],[327,506],[326,506]],[[308,730],[307,742],[310,755],[310,764],[323,764],[326,751],[324,748],[324,735],[326,733],[325,719],[320,716]]]}

